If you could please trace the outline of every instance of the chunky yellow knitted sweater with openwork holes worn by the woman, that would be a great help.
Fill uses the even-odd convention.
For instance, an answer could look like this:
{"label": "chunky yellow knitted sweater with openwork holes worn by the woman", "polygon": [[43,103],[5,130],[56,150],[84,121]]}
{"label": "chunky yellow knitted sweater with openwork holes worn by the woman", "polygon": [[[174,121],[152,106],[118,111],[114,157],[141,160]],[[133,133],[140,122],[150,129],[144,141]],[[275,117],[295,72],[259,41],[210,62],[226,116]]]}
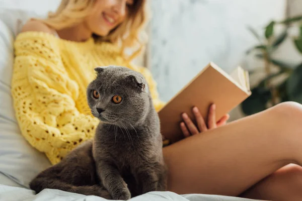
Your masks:
{"label": "chunky yellow knitted sweater with openwork holes worn by the woman", "polygon": [[52,164],[94,136],[99,120],[90,115],[86,87],[96,77],[95,67],[119,65],[142,73],[156,110],[163,106],[150,72],[131,65],[111,43],[25,32],[15,41],[15,55],[12,95],[22,135]]}

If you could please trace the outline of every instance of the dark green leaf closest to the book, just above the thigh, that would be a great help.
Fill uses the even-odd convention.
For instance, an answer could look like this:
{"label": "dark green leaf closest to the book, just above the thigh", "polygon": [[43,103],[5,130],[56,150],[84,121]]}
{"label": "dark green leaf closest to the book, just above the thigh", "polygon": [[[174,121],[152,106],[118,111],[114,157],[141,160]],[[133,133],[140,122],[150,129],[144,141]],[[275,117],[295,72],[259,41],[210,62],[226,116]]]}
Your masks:
{"label": "dark green leaf closest to the book, just above the thigh", "polygon": [[252,94],[241,104],[242,111],[246,115],[252,115],[266,109],[266,104],[271,99],[269,89],[257,86],[253,88]]}

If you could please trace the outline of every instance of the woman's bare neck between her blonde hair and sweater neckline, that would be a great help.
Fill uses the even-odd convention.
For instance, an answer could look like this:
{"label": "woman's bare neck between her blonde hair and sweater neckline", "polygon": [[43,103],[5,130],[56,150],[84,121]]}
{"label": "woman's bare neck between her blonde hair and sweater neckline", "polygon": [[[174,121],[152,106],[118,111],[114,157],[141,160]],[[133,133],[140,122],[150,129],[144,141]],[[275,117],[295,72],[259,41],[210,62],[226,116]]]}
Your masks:
{"label": "woman's bare neck between her blonde hair and sweater neckline", "polygon": [[77,42],[87,41],[92,36],[85,23],[57,30],[57,33],[61,39]]}

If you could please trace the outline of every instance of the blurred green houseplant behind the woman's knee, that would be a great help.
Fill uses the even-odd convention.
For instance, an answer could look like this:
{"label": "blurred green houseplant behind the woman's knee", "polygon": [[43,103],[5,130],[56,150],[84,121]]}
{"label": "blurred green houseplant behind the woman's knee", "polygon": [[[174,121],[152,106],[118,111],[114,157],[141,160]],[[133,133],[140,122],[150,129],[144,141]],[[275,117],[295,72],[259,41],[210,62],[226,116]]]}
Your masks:
{"label": "blurred green houseplant behind the woman's knee", "polygon": [[[274,28],[276,25],[284,25],[284,30],[275,36]],[[297,66],[289,66],[285,62],[272,58],[274,51],[288,38],[288,29],[293,26],[299,27],[299,35],[292,37],[291,41],[295,48],[302,54],[302,16],[285,19],[281,22],[271,21],[264,29],[264,36],[249,28],[251,33],[257,38],[259,44],[247,51],[258,52],[256,57],[263,59],[265,77],[254,86],[252,95],[242,104],[242,111],[246,115],[252,115],[272,107],[280,102],[292,100],[302,104],[302,63]],[[302,56],[302,55],[301,55]],[[277,70],[276,70],[277,68]],[[274,69],[274,70],[272,70]],[[250,71],[253,74],[253,71]],[[282,81],[275,83],[273,80],[284,77]]]}

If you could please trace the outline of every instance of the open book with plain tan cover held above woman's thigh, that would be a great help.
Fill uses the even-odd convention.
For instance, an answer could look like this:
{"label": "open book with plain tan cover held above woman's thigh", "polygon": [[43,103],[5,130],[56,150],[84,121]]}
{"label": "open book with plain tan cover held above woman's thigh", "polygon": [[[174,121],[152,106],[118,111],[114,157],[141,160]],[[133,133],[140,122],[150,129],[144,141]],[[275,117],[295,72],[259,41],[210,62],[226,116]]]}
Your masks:
{"label": "open book with plain tan cover held above woman's thigh", "polygon": [[211,62],[158,112],[162,135],[172,143],[182,139],[181,114],[194,120],[194,106],[207,121],[209,106],[214,103],[218,121],[250,95],[247,71],[238,67],[229,75]]}

